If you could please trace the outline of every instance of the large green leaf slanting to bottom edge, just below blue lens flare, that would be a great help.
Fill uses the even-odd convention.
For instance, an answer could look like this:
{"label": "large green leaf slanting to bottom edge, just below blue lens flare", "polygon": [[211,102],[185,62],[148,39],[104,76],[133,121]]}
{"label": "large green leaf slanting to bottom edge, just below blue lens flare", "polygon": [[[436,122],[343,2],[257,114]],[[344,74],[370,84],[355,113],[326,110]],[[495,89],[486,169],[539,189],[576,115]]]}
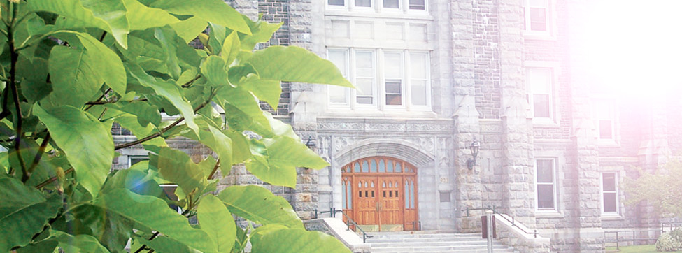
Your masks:
{"label": "large green leaf slanting to bottom edge, just below blue lens flare", "polygon": [[157,197],[138,195],[128,189],[115,189],[102,194],[94,203],[83,205],[113,212],[188,247],[215,252],[215,243],[206,232],[193,229],[186,217],[168,208],[166,202]]}

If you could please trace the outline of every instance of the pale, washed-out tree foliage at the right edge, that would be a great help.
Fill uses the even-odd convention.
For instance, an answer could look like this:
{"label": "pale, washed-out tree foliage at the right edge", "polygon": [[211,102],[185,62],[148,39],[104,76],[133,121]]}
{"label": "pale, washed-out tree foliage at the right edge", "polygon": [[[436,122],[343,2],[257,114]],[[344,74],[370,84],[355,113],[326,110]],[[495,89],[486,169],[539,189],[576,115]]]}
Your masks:
{"label": "pale, washed-out tree foliage at the right edge", "polygon": [[671,160],[653,173],[639,169],[639,178],[625,178],[625,204],[646,201],[660,215],[682,217],[682,162]]}

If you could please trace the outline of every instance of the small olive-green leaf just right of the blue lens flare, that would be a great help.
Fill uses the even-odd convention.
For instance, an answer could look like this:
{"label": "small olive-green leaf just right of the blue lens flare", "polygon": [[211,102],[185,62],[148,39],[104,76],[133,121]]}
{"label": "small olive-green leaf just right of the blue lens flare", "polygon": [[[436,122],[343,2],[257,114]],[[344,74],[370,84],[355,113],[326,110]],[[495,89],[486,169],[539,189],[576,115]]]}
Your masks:
{"label": "small olive-green leaf just right of the blue lens flare", "polygon": [[204,172],[185,152],[180,150],[162,147],[157,168],[164,179],[178,184],[185,194],[190,194],[197,189],[201,191],[206,185]]}

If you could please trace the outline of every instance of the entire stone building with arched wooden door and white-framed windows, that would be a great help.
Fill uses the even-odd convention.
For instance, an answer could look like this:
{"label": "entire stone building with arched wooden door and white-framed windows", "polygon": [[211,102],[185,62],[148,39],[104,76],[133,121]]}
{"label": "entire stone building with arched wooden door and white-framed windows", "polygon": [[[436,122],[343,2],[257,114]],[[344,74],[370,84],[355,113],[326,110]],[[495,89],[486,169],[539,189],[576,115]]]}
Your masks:
{"label": "entire stone building with arched wooden door and white-framed windows", "polygon": [[[299,169],[296,189],[269,186],[304,219],[336,208],[369,229],[468,232],[481,211],[465,210],[495,207],[553,251],[600,251],[604,231],[659,225],[623,204],[618,182],[679,151],[682,102],[601,88],[581,50],[591,1],[227,2],[283,22],[267,44],[307,48],[358,87],[283,83],[280,107],[263,105],[332,164]],[[258,180],[236,168],[224,183]]]}

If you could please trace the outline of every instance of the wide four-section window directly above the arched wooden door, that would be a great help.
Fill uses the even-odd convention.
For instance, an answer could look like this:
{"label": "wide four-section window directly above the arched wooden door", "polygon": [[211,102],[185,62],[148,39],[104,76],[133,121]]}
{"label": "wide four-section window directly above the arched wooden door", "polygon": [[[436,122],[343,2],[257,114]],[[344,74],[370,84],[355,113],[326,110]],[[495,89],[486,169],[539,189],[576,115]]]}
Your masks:
{"label": "wide four-section window directly above the arched wooden door", "polygon": [[330,106],[430,110],[428,52],[330,48],[327,55],[357,87],[328,87]]}

